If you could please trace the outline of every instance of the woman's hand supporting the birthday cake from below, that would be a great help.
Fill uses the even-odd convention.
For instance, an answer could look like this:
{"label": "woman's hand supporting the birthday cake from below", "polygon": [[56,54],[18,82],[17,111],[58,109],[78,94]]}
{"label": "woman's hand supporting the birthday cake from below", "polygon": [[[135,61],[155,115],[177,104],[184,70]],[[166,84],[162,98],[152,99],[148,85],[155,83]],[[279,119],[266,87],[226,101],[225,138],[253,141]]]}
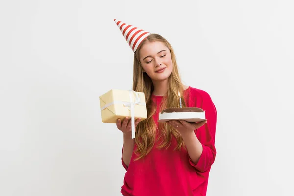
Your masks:
{"label": "woman's hand supporting the birthday cake from below", "polygon": [[195,129],[200,128],[201,126],[203,126],[205,123],[207,123],[206,121],[201,121],[199,123],[189,123],[187,121],[184,120],[172,120],[172,121],[167,121],[167,124],[173,126],[175,129],[177,129],[180,134],[182,133],[188,133],[188,132],[192,132]]}

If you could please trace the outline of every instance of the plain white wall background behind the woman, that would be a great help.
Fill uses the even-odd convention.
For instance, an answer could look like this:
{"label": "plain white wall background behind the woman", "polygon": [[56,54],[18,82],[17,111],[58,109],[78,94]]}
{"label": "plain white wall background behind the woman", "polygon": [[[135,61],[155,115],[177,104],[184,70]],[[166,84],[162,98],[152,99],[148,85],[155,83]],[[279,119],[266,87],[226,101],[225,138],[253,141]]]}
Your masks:
{"label": "plain white wall background behind the woman", "polygon": [[132,87],[113,19],[163,35],[218,110],[207,196],[293,196],[290,0],[1,0],[0,195],[120,196],[123,135],[99,96]]}

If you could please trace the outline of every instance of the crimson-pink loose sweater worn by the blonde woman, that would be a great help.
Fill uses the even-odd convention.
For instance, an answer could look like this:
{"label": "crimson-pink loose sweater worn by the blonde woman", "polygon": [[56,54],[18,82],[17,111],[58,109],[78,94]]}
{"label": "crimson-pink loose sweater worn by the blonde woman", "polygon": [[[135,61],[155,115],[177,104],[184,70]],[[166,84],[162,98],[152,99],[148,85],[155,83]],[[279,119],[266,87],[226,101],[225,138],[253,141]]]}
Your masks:
{"label": "crimson-pink loose sweater worn by the blonde woman", "polygon": [[[121,193],[124,196],[206,196],[211,165],[216,156],[215,132],[217,111],[209,94],[203,90],[189,87],[184,92],[187,107],[199,107],[205,110],[207,123],[195,130],[202,143],[203,152],[197,164],[194,164],[185,149],[175,150],[176,140],[170,147],[158,149],[155,145],[143,159],[134,161],[133,153],[126,169]],[[158,125],[160,96],[153,96],[157,112],[153,116]],[[156,141],[156,140],[155,140]],[[135,148],[136,149],[136,144]]]}

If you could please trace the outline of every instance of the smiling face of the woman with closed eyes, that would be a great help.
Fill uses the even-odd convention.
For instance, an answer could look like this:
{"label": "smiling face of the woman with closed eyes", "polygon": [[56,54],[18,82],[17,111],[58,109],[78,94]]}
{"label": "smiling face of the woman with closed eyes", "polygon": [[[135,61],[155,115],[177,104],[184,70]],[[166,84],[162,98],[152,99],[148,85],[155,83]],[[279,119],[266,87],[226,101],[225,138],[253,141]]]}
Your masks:
{"label": "smiling face of the woman with closed eyes", "polygon": [[153,81],[168,79],[172,73],[172,56],[162,42],[146,42],[139,51],[144,72]]}

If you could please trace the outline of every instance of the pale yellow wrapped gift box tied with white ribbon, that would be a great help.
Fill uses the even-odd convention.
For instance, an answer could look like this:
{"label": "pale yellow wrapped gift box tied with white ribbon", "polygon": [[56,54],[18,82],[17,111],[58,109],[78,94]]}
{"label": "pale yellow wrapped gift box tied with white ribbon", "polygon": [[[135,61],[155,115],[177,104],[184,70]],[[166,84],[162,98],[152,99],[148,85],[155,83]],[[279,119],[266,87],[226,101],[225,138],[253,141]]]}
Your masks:
{"label": "pale yellow wrapped gift box tied with white ribbon", "polygon": [[137,118],[141,121],[147,118],[143,92],[112,89],[99,98],[103,123],[116,123],[117,119],[123,121],[125,117],[131,117],[134,123]]}

